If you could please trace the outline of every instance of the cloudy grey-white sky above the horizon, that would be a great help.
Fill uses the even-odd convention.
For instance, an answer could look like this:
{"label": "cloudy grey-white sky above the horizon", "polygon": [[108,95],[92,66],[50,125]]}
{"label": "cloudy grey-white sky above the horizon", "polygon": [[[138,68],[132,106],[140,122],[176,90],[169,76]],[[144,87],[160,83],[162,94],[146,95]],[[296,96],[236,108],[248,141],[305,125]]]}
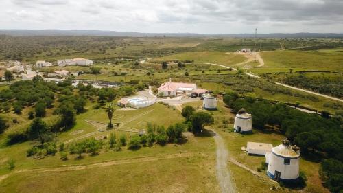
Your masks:
{"label": "cloudy grey-white sky above the horizon", "polygon": [[0,29],[343,32],[343,0],[0,0]]}

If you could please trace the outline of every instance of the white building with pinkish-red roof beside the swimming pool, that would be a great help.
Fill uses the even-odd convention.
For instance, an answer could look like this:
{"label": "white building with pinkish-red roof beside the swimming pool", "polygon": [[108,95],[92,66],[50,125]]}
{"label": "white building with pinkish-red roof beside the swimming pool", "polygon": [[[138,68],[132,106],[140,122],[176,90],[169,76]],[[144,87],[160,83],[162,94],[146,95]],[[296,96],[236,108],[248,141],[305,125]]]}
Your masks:
{"label": "white building with pinkish-red roof beside the swimming pool", "polygon": [[176,96],[180,94],[190,95],[193,90],[197,89],[196,84],[183,82],[165,82],[158,88],[158,95]]}

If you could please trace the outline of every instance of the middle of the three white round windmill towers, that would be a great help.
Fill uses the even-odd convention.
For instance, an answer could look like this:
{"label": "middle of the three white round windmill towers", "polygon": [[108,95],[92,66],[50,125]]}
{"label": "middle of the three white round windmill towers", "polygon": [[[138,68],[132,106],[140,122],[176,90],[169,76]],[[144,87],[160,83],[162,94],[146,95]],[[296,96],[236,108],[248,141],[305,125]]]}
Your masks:
{"label": "middle of the three white round windmill towers", "polygon": [[233,124],[235,132],[237,133],[250,133],[252,132],[251,114],[246,113],[246,110],[241,109],[235,117],[235,124]]}

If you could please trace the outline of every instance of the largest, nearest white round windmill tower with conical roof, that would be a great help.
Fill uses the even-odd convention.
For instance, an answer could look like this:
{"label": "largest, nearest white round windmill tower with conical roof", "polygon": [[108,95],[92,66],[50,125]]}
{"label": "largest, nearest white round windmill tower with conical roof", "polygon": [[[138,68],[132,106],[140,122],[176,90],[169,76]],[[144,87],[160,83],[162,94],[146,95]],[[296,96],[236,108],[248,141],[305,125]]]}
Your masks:
{"label": "largest, nearest white round windmill tower with conical roof", "polygon": [[300,155],[292,149],[288,139],[272,148],[268,159],[267,174],[271,179],[286,183],[298,179]]}

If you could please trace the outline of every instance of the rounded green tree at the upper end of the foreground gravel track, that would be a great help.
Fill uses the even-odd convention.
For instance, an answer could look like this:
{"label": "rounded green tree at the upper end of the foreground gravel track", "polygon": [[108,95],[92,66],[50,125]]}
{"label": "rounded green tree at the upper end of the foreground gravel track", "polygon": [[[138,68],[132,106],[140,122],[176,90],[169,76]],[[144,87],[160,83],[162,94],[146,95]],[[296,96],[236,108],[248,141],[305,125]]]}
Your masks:
{"label": "rounded green tree at the upper end of the foreground gravel track", "polygon": [[193,133],[200,133],[204,126],[213,124],[214,120],[212,115],[209,113],[198,112],[194,113],[191,117],[191,123],[193,128]]}

